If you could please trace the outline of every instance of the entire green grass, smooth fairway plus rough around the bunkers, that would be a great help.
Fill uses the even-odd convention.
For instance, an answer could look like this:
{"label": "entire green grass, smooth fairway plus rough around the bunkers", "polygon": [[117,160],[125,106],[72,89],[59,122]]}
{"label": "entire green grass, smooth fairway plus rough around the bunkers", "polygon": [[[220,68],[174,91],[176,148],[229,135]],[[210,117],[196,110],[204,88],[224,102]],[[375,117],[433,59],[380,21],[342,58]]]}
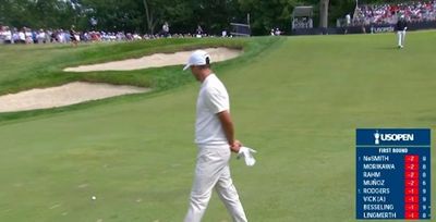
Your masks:
{"label": "entire green grass, smooth fairway plus rough around the bunkers", "polygon": [[[258,151],[253,168],[231,161],[249,220],[355,221],[355,128],[435,127],[435,32],[410,33],[402,50],[393,34],[0,47],[8,70],[0,94],[76,79],[156,88],[0,114],[0,221],[182,221],[196,155],[198,84],[191,74],[181,65],[121,77],[60,70],[195,45],[245,47],[243,57],[216,69],[230,94],[237,137]],[[106,57],[107,50],[117,54]],[[34,57],[44,51],[51,55]],[[180,81],[171,82],[174,76]],[[230,221],[216,195],[204,221]]]}

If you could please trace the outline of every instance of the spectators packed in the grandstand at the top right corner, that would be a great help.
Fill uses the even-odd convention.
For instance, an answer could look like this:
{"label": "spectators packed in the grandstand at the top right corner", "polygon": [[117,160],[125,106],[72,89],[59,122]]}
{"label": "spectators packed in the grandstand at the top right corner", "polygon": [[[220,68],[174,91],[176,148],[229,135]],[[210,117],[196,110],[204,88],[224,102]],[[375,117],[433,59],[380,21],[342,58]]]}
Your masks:
{"label": "spectators packed in the grandstand at the top right corner", "polygon": [[436,0],[359,5],[352,23],[353,25],[395,24],[399,15],[404,15],[405,20],[412,23],[436,21]]}

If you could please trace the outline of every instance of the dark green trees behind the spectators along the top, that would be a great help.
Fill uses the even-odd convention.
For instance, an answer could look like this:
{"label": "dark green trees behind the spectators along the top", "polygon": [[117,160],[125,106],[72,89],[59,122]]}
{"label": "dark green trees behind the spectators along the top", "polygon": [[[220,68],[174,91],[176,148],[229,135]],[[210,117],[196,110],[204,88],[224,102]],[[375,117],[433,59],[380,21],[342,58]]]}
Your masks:
{"label": "dark green trees behind the spectators along the top", "polygon": [[[365,3],[389,0],[362,0]],[[247,23],[254,35],[290,30],[292,11],[313,5],[316,26],[352,13],[355,0],[0,0],[0,24],[14,27],[70,28],[156,34],[168,22],[171,33],[208,34]]]}

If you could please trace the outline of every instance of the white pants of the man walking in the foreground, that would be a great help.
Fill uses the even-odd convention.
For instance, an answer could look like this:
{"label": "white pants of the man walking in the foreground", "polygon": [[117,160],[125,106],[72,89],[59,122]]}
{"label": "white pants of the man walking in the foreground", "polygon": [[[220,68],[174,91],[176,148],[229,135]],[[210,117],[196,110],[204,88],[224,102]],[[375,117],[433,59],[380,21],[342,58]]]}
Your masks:
{"label": "white pants of the man walking in the foreground", "polygon": [[213,188],[226,205],[234,222],[246,222],[244,209],[230,176],[230,148],[226,146],[199,146],[195,166],[190,207],[184,222],[199,222],[206,211]]}

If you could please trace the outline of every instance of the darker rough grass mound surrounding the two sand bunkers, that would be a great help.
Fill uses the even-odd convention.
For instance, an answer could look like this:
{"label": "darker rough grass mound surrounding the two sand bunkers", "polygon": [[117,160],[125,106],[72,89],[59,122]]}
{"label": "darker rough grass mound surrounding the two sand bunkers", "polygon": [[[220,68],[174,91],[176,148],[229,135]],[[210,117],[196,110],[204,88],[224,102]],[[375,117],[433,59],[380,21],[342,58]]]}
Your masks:
{"label": "darker rough grass mound surrounding the two sand bunkers", "polygon": [[[34,46],[0,46],[0,61],[2,72],[0,73],[0,95],[17,92],[32,88],[45,88],[58,86],[70,82],[109,83],[114,85],[133,85],[149,87],[153,92],[141,95],[147,97],[150,94],[159,94],[169,89],[175,89],[189,83],[193,83],[189,72],[181,72],[182,65],[168,67],[154,67],[135,71],[104,71],[71,73],[63,72],[64,67],[80,64],[93,64],[107,61],[116,61],[131,58],[140,58],[156,52],[175,52],[208,47],[228,47],[243,49],[244,54],[233,61],[221,62],[214,67],[235,65],[247,58],[258,54],[268,45],[277,39],[158,39],[134,42],[102,42],[85,44],[77,48],[69,45],[34,45]],[[222,65],[225,64],[225,66]],[[72,109],[83,109],[114,100],[130,100],[138,96],[122,96],[119,98],[105,99],[102,101],[90,101],[83,104],[74,104],[66,108],[51,110],[25,111],[19,113],[0,113],[0,122],[55,113]]]}

